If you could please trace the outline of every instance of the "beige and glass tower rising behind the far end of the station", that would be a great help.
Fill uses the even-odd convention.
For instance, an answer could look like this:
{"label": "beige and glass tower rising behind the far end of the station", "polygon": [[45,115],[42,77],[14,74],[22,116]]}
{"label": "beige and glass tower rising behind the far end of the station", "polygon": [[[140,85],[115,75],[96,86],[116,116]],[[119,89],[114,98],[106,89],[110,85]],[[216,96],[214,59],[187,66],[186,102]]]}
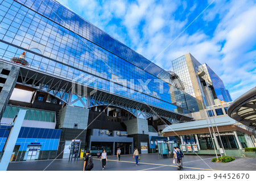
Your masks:
{"label": "beige and glass tower rising behind the far end of the station", "polygon": [[187,53],[175,59],[172,61],[172,67],[183,82],[184,91],[197,98],[200,110],[203,109],[202,102],[212,106],[232,101],[229,91],[225,89],[218,75],[207,64],[197,61],[192,54]]}

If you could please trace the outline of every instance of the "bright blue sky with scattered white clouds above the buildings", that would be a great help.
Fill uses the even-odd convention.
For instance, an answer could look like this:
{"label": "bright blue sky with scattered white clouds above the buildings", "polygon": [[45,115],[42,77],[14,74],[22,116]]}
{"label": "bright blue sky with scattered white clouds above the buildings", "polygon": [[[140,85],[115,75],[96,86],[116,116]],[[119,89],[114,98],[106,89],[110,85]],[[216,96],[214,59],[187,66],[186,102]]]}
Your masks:
{"label": "bright blue sky with scattered white clouds above the buildings", "polygon": [[[115,39],[154,60],[213,0],[58,0]],[[256,3],[216,0],[162,53],[155,64],[190,52],[224,81],[233,100],[256,86]]]}

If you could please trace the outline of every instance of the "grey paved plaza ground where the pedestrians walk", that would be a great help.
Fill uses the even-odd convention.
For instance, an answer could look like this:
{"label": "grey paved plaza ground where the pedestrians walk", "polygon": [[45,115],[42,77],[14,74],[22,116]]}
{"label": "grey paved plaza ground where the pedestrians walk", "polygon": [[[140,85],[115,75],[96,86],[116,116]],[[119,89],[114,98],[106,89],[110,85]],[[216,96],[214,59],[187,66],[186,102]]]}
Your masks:
{"label": "grey paved plaza ground where the pedestrians walk", "polygon": [[[172,159],[159,159],[158,154],[143,154],[140,156],[139,166],[135,166],[135,159],[132,155],[121,155],[121,161],[117,161],[116,156],[109,156],[105,171],[126,171],[126,170],[148,170],[148,171],[170,171],[177,170],[176,165],[172,164]],[[210,162],[212,156],[184,155],[184,171],[204,171],[204,170],[256,170],[256,158],[236,158],[229,163]],[[202,160],[203,159],[203,160]],[[51,163],[51,164],[50,164]],[[100,159],[93,158],[94,171],[102,170]],[[50,165],[49,165],[50,164]],[[84,161],[69,162],[68,159],[56,159],[46,161],[24,161],[11,162],[8,170],[82,170]],[[48,167],[47,167],[48,166]],[[47,167],[47,168],[46,168]]]}

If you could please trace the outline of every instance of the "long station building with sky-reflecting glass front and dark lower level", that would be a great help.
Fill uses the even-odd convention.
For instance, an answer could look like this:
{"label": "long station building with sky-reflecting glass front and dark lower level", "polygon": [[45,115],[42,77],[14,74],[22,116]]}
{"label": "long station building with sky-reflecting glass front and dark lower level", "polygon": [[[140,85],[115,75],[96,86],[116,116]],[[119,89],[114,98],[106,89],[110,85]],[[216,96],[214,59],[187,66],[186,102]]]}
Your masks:
{"label": "long station building with sky-reflecting glass front and dark lower level", "polygon": [[[1,127],[27,110],[13,160],[67,157],[73,139],[92,153],[149,153],[151,134],[199,111],[179,76],[57,1],[0,0],[0,26]],[[10,99],[13,91],[30,99]]]}

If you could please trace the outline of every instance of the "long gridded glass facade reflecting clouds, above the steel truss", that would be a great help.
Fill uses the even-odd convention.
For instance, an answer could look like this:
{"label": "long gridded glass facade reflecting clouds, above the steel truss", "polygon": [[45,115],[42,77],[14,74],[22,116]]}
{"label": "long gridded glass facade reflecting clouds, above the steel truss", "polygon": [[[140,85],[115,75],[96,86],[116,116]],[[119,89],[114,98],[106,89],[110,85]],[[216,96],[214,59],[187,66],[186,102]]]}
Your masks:
{"label": "long gridded glass facade reflecting clouds, above the steel truss", "polygon": [[[56,1],[0,0],[0,26],[3,60],[25,51],[29,68],[36,71],[170,111],[198,110],[195,98],[156,77],[163,69]],[[126,79],[127,85],[110,83],[113,77]],[[139,79],[151,79],[149,91],[137,94]]]}

